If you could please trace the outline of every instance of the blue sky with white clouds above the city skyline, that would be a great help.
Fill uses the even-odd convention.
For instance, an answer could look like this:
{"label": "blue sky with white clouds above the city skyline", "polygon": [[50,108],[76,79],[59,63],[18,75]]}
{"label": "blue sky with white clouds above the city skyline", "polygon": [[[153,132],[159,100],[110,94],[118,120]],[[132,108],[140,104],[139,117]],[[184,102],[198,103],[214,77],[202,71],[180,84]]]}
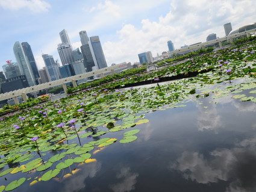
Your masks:
{"label": "blue sky with white clouds above the city skyline", "polygon": [[60,61],[59,33],[66,29],[73,48],[81,46],[79,32],[99,36],[108,66],[139,61],[175,48],[205,42],[208,34],[225,36],[223,24],[233,29],[256,22],[255,0],[0,0],[0,70],[16,61],[15,42],[31,45],[37,66],[42,53]]}

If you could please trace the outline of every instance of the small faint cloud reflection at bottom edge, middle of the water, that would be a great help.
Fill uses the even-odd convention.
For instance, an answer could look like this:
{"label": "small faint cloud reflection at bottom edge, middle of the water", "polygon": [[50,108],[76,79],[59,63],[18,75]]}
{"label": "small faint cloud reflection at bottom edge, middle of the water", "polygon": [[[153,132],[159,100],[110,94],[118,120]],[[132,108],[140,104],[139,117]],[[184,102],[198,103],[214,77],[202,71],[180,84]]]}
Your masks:
{"label": "small faint cloud reflection at bottom edge, middle of the water", "polygon": [[111,185],[111,189],[114,192],[129,192],[135,189],[135,184],[137,183],[137,177],[139,173],[131,172],[130,167],[123,167],[119,173],[117,173],[116,178],[122,179],[123,181]]}

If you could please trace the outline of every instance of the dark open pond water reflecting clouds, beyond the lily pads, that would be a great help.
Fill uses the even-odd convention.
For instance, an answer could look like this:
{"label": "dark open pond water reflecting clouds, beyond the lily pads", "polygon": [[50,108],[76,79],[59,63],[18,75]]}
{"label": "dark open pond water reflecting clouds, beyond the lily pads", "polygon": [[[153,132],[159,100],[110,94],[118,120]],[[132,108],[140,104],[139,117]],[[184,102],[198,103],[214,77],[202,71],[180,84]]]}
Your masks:
{"label": "dark open pond water reflecting clouds, beyond the lily pads", "polygon": [[[105,147],[93,154],[95,162],[81,165],[70,178],[58,179],[77,166],[48,182],[29,187],[26,181],[13,191],[256,191],[255,102],[207,97],[184,105],[146,113],[148,123],[129,128],[140,129],[137,140]],[[100,138],[120,140],[125,131]]]}

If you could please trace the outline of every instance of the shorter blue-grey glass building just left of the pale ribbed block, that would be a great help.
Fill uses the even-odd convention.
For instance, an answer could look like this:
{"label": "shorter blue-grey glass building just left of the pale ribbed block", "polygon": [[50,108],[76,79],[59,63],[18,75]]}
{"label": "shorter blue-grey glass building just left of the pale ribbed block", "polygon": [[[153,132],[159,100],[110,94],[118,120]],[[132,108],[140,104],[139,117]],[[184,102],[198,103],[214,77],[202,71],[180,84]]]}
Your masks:
{"label": "shorter blue-grey glass building just left of the pale ribbed block", "polygon": [[52,55],[43,54],[43,61],[45,61],[46,69],[48,70],[49,80],[55,81],[60,79],[60,69],[58,63],[54,61]]}

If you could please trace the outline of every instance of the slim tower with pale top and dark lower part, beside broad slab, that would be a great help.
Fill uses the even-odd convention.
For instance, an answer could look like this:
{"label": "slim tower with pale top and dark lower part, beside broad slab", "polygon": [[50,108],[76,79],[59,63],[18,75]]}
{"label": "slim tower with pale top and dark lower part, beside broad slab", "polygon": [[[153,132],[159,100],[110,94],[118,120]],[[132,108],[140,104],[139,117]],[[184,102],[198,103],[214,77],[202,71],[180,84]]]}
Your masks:
{"label": "slim tower with pale top and dark lower part, beside broad slab", "polygon": [[98,67],[95,55],[93,53],[92,45],[89,41],[86,31],[80,31],[79,35],[82,43],[81,52],[84,58],[84,67],[86,67],[88,72],[91,72],[94,66]]}

